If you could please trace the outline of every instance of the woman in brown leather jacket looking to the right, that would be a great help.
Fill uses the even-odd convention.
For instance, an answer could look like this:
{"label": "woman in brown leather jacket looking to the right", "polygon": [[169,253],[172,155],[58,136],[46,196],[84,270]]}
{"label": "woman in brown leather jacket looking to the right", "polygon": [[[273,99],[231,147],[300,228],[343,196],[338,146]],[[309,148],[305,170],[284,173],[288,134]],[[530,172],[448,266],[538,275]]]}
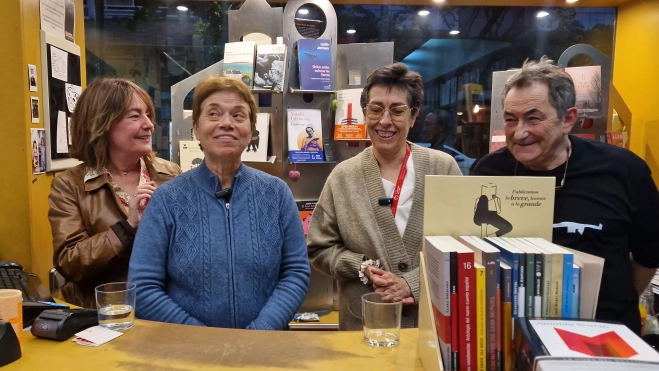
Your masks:
{"label": "woman in brown leather jacket looking to the right", "polygon": [[48,197],[55,268],[64,300],[95,308],[94,288],[125,281],[135,232],[157,186],[181,173],[151,150],[154,107],[136,84],[89,84],[71,117],[71,157]]}

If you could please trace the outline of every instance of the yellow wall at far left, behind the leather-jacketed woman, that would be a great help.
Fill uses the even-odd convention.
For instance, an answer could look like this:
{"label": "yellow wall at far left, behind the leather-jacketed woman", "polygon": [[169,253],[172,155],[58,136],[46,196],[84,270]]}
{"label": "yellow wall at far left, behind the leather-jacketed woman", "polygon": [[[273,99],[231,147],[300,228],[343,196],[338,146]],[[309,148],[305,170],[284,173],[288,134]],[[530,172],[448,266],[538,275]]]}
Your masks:
{"label": "yellow wall at far left, behind the leather-jacketed woman", "polygon": [[[85,86],[83,1],[75,0],[75,40],[82,51]],[[14,260],[48,285],[53,248],[48,222],[48,194],[53,174],[32,175],[30,129],[43,128],[39,0],[3,0],[0,13],[0,259]],[[37,66],[38,91],[28,88],[27,64]],[[29,97],[38,97],[42,121],[32,124]]]}

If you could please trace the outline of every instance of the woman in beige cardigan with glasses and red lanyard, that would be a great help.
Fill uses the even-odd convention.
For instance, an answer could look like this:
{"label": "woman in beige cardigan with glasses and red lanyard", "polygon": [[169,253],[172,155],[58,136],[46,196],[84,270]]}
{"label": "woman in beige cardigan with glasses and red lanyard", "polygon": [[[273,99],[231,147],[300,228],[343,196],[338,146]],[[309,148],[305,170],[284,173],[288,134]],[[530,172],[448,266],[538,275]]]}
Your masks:
{"label": "woman in beige cardigan with glasses and red lanyard", "polygon": [[461,175],[446,153],[407,142],[423,101],[421,76],[402,63],[368,77],[361,106],[373,145],[330,174],[311,219],[311,264],[339,283],[339,329],[362,328],[361,296],[402,301],[417,326],[426,175]]}

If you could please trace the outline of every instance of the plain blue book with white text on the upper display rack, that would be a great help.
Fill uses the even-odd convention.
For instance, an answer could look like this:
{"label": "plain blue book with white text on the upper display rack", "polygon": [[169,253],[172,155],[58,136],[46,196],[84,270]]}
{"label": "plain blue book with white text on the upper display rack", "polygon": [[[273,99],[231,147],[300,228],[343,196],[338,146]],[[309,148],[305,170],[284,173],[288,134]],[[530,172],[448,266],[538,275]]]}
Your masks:
{"label": "plain blue book with white text on the upper display rack", "polygon": [[300,89],[334,90],[332,83],[332,43],[325,39],[300,39],[297,42]]}

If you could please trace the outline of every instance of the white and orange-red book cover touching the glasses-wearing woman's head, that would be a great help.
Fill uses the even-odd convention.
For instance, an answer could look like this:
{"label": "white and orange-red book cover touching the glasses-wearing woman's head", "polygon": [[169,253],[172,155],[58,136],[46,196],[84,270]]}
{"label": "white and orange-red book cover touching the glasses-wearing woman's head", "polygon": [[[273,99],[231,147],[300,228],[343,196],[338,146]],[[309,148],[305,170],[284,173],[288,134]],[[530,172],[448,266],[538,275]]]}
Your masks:
{"label": "white and orange-red book cover touching the glasses-wearing woman's head", "polygon": [[339,103],[334,115],[334,140],[364,140],[366,124],[360,106],[362,89],[344,89],[336,91]]}

